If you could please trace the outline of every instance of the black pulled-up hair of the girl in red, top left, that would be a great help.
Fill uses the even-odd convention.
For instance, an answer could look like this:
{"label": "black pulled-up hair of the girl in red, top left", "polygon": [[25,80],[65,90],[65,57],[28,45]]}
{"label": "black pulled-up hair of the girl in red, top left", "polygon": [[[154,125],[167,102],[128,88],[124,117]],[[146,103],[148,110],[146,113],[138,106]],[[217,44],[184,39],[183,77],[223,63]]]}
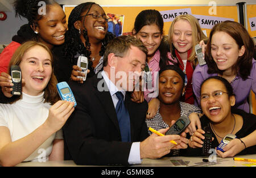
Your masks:
{"label": "black pulled-up hair of the girl in red, top left", "polygon": [[[16,0],[13,5],[15,9],[16,17],[24,17],[28,20],[28,24],[23,26],[23,32],[26,32],[26,40],[35,40],[39,41],[38,35],[34,33],[34,29],[38,26],[38,20],[42,19],[43,15],[39,14],[39,9],[42,8],[42,4],[40,0]],[[46,3],[46,13],[49,11],[49,7],[47,5],[55,5],[57,4],[54,0],[44,0]],[[32,28],[31,28],[32,27]]]}

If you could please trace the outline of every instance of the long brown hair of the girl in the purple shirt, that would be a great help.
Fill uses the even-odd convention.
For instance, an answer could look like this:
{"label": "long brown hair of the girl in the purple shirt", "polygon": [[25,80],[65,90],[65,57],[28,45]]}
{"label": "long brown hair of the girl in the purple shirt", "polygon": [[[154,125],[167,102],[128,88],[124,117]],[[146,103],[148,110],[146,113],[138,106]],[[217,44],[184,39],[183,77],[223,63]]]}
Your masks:
{"label": "long brown hair of the girl in the purple shirt", "polygon": [[217,73],[222,75],[224,72],[218,69],[218,66],[216,65],[216,62],[214,62],[210,52],[212,36],[216,32],[228,33],[228,35],[236,41],[238,49],[241,49],[243,45],[245,46],[245,53],[238,57],[237,62],[233,66],[233,69],[237,71],[237,74],[240,75],[243,80],[245,80],[250,75],[251,67],[253,66],[252,60],[254,55],[254,43],[242,24],[229,20],[216,24],[216,26],[212,28],[212,31],[210,31],[209,41],[205,50],[205,61],[208,65],[208,74]]}

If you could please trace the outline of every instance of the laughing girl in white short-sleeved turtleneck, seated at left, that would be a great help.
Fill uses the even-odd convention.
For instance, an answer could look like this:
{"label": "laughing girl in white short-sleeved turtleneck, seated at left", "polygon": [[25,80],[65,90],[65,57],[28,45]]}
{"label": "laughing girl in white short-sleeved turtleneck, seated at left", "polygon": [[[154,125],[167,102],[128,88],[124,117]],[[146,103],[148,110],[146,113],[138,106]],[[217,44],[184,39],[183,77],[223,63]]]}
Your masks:
{"label": "laughing girl in white short-sleeved turtleneck, seated at left", "polygon": [[74,111],[74,103],[58,101],[52,60],[46,45],[28,41],[10,61],[9,70],[19,65],[24,82],[22,95],[0,104],[1,166],[64,159],[60,129]]}

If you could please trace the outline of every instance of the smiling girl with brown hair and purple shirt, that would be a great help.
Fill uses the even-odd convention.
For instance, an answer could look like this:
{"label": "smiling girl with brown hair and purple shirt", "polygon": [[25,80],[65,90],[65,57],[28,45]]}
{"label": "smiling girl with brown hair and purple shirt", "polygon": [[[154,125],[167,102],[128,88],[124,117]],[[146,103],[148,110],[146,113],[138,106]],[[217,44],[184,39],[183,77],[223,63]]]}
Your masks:
{"label": "smiling girl with brown hair and purple shirt", "polygon": [[236,94],[234,107],[249,112],[247,98],[256,92],[256,61],[254,43],[240,23],[225,21],[210,32],[205,52],[207,65],[197,66],[193,73],[193,91],[200,98],[200,84],[211,76],[229,81]]}

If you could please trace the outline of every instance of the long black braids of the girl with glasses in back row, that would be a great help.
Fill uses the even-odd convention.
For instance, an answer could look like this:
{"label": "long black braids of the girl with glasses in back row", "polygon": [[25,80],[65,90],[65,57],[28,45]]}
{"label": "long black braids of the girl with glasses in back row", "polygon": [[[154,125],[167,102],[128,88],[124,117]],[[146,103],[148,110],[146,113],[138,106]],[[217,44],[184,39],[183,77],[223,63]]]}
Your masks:
{"label": "long black braids of the girl with glasses in back row", "polygon": [[[87,30],[85,28],[82,31],[82,34],[85,39],[85,46],[84,46],[84,44],[80,39],[79,30],[75,28],[74,23],[77,20],[81,20],[82,12],[86,11],[86,14],[88,14],[88,12],[90,11],[93,5],[97,5],[97,4],[94,2],[81,3],[71,11],[71,14],[69,15],[69,18],[68,18],[68,31],[65,34],[65,43],[64,43],[65,46],[63,50],[64,56],[67,57],[73,65],[76,65],[77,63],[77,61],[74,58],[74,56],[77,53],[83,54],[84,56],[86,56],[89,60],[89,69],[93,69],[93,67],[92,67],[92,61],[90,60],[90,54],[92,54],[92,52],[90,51],[90,43],[89,43]],[[82,23],[84,24],[84,22]],[[106,33],[105,38],[101,41],[102,46],[100,50],[100,56],[104,56],[106,45],[108,44],[109,40],[113,38],[114,38],[114,35],[112,35],[112,33],[110,32]]]}

